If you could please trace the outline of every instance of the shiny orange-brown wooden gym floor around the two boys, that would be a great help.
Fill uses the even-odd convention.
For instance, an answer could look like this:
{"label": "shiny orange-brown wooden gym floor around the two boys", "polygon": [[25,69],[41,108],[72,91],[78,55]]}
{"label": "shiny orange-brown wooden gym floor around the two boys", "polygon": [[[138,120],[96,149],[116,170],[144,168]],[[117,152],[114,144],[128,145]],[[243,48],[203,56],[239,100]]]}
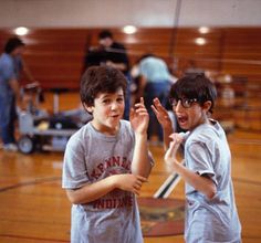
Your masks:
{"label": "shiny orange-brown wooden gym floor around the two boys", "polygon": [[[52,110],[52,95],[45,108]],[[77,94],[60,97],[60,109],[75,108]],[[248,120],[244,120],[248,123]],[[238,130],[228,135],[232,178],[242,241],[261,242],[261,133]],[[140,197],[153,197],[168,175],[163,148],[150,146],[156,166]],[[0,242],[69,242],[70,202],[61,189],[62,152],[22,155],[0,150]],[[169,198],[184,199],[180,181]],[[145,237],[145,243],[179,243],[182,235]]]}

